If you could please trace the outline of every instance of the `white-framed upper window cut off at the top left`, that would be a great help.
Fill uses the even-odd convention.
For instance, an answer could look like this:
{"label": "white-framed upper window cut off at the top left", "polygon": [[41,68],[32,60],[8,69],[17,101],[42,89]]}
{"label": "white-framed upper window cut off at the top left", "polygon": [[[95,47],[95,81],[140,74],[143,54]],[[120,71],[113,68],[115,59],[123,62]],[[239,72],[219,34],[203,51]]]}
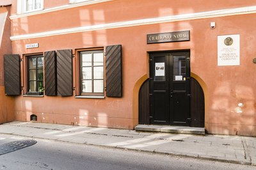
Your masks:
{"label": "white-framed upper window cut off at the top left", "polygon": [[43,4],[44,0],[18,0],[18,13],[42,10]]}

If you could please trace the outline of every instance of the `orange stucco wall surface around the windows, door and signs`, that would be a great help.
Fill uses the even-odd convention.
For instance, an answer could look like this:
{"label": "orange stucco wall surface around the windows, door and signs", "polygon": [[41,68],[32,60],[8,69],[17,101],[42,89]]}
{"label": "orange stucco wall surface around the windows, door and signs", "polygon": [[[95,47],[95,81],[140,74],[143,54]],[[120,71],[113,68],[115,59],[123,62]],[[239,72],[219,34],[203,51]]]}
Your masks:
{"label": "orange stucco wall surface around the windows, door and signs", "polygon": [[[64,1],[58,1],[64,3]],[[47,4],[49,3],[49,4]],[[60,3],[60,4],[61,4]],[[201,5],[204,4],[204,5]],[[253,6],[252,1],[109,1],[68,10],[44,13],[12,20],[12,35],[41,33],[56,29],[97,25],[125,20],[147,19],[182,13],[206,12]],[[59,5],[59,4],[58,4]],[[54,6],[50,1],[45,6]],[[46,8],[46,7],[45,7]],[[12,13],[15,15],[15,3]],[[122,44],[124,97],[84,99],[72,97],[15,98],[17,120],[29,121],[30,114],[38,121],[111,128],[134,128],[134,86],[148,73],[148,51],[191,51],[191,72],[202,79],[205,93],[205,128],[212,134],[256,135],[256,14],[232,15],[210,19],[183,20],[145,26],[86,31],[67,35],[15,40],[13,54],[31,54],[48,50],[106,47]],[[216,22],[216,28],[210,28]],[[190,30],[189,42],[147,45],[147,34]],[[240,65],[217,65],[218,35],[240,35]],[[37,49],[25,49],[27,43],[39,43]],[[73,52],[74,53],[74,52]],[[76,58],[74,59],[74,63]],[[77,65],[74,65],[74,71]],[[26,79],[22,73],[22,86]],[[74,82],[77,77],[74,76]],[[75,83],[76,86],[76,83]],[[237,104],[243,103],[237,113]]]}

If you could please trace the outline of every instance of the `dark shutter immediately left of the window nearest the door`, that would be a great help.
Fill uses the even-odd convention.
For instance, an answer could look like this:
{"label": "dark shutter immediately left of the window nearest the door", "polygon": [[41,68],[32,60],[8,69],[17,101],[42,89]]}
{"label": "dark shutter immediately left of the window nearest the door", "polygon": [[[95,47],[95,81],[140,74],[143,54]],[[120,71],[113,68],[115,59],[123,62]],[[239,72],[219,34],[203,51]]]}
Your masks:
{"label": "dark shutter immediately left of the window nearest the door", "polygon": [[72,50],[57,50],[57,89],[58,95],[73,95]]}

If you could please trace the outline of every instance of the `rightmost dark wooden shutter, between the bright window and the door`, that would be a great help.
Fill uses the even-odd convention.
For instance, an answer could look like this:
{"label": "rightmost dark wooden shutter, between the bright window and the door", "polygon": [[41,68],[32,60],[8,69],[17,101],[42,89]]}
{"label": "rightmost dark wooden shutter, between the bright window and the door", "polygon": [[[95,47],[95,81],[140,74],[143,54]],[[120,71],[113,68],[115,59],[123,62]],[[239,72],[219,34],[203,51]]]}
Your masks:
{"label": "rightmost dark wooden shutter, between the bright window and the door", "polygon": [[122,97],[122,45],[106,47],[106,94]]}

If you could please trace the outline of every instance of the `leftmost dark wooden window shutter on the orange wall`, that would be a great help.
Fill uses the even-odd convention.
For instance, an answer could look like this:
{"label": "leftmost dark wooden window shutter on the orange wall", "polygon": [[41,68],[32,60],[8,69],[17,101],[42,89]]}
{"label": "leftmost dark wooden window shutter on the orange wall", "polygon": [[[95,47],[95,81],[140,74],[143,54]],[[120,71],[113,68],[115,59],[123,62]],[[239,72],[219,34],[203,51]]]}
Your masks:
{"label": "leftmost dark wooden window shutter on the orange wall", "polygon": [[20,95],[20,56],[4,55],[4,89],[6,95]]}

